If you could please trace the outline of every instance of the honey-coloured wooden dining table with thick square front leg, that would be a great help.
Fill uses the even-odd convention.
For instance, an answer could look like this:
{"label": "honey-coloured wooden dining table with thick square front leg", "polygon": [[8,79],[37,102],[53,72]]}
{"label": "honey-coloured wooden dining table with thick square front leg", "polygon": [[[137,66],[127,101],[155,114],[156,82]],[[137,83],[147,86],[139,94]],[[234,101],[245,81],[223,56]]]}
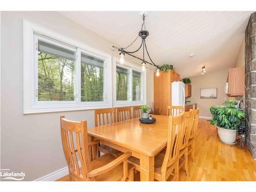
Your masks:
{"label": "honey-coloured wooden dining table with thick square front leg", "polygon": [[92,140],[140,160],[140,180],[154,181],[155,156],[167,145],[168,116],[154,115],[155,123],[140,123],[139,118],[88,129]]}

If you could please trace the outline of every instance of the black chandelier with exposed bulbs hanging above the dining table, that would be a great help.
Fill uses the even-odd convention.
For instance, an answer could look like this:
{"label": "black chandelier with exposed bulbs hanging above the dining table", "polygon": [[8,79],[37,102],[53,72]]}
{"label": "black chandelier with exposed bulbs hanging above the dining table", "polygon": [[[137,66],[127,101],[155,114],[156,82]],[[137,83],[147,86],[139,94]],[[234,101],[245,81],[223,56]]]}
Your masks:
{"label": "black chandelier with exposed bulbs hanging above the dining table", "polygon": [[[130,56],[135,57],[135,58],[137,58],[137,59],[139,59],[139,60],[142,61],[142,63],[141,63],[141,65],[142,65],[142,71],[145,71],[145,65],[146,65],[146,63],[148,63],[148,64],[150,64],[150,65],[152,65],[152,66],[155,66],[155,67],[157,68],[156,76],[159,76],[159,75],[160,75],[160,73],[159,73],[159,66],[157,66],[157,65],[152,61],[152,59],[151,59],[151,57],[150,57],[150,54],[148,53],[147,47],[146,47],[146,41],[145,41],[145,39],[146,39],[146,37],[150,34],[150,33],[148,33],[148,31],[146,30],[146,27],[145,27],[145,15],[146,15],[146,13],[143,12],[141,15],[142,15],[143,23],[142,23],[142,25],[141,25],[141,30],[139,31],[139,34],[138,34],[138,36],[134,39],[134,41],[133,41],[129,46],[127,46],[127,47],[118,48],[118,47],[113,46],[113,48],[118,49],[118,51],[120,52],[119,55],[120,55],[120,63],[121,63],[121,65],[124,63],[124,55],[127,54],[127,55],[130,55]],[[131,46],[134,44],[134,42],[135,42],[139,37],[141,37],[141,39],[142,39],[139,48],[138,48],[137,50],[135,50],[135,51],[126,51],[126,49],[129,48],[129,47],[131,47]],[[143,59],[142,59],[142,58],[139,58],[139,57],[137,57],[137,56],[135,56],[135,55],[133,55],[134,53],[138,52],[141,48],[143,49]],[[148,58],[150,58],[150,61],[151,61],[151,62],[148,62],[148,61],[145,60],[145,52],[146,52]]]}

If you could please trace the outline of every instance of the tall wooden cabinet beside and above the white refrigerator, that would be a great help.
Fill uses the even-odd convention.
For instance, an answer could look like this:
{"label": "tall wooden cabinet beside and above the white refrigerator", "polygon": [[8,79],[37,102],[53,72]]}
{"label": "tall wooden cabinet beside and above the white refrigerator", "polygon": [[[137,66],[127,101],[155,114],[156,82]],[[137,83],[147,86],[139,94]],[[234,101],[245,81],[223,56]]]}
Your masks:
{"label": "tall wooden cabinet beside and above the white refrigerator", "polygon": [[167,106],[172,104],[172,81],[179,81],[180,74],[171,70],[159,73],[159,77],[154,73],[154,113],[166,115]]}

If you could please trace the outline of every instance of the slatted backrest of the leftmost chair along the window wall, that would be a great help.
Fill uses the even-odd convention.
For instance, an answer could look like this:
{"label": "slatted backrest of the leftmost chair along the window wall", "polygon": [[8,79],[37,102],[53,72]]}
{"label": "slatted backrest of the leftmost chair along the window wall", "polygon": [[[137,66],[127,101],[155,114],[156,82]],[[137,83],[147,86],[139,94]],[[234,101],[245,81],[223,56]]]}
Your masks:
{"label": "slatted backrest of the leftmost chair along the window wall", "polygon": [[95,110],[94,120],[95,126],[116,122],[115,108]]}

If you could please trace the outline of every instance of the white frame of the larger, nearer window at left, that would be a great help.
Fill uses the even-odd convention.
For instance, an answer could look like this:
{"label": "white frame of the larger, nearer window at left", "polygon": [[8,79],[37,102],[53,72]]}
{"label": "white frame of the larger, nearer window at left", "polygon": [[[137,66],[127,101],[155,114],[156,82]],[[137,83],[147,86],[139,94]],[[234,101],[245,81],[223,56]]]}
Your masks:
{"label": "white frame of the larger, nearer window at left", "polygon": [[[30,113],[46,113],[59,111],[75,111],[75,110],[90,110],[99,108],[111,108],[112,106],[112,83],[108,79],[112,77],[111,70],[111,55],[82,44],[79,41],[63,36],[59,33],[51,31],[47,28],[36,25],[28,20],[23,20],[23,51],[24,51],[24,114]],[[74,47],[77,50],[76,59],[76,99],[75,101],[37,101],[35,102],[35,94],[37,86],[37,65],[35,65],[35,44],[34,34],[42,37],[54,39],[56,44],[61,42],[61,46],[67,45],[69,48]],[[81,102],[80,100],[80,78],[81,78],[81,54],[89,54],[91,56],[104,60],[104,101],[99,102]],[[36,61],[37,63],[37,61]],[[37,98],[36,98],[37,99]]]}

